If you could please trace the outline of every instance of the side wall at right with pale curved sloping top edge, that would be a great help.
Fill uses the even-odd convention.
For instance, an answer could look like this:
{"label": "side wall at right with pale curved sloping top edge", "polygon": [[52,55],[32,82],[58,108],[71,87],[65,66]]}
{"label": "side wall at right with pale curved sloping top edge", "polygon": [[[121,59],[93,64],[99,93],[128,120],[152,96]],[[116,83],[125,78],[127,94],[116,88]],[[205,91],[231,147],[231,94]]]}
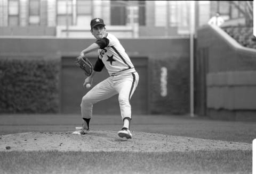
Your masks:
{"label": "side wall at right with pale curved sloping top edge", "polygon": [[[212,118],[255,119],[256,50],[239,45],[216,26],[197,31],[196,71],[203,69],[207,115]],[[203,63],[203,64],[202,64]],[[201,81],[203,82],[203,81]],[[203,96],[204,94],[201,93]]]}

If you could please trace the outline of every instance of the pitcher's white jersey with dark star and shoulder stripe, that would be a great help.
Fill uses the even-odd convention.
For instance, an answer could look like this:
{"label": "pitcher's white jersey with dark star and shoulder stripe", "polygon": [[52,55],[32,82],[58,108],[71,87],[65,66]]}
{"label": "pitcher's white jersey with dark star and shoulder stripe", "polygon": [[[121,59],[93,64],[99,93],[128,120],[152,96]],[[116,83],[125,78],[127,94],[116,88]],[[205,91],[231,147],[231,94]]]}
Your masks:
{"label": "pitcher's white jersey with dark star and shoulder stripe", "polygon": [[125,49],[119,40],[110,33],[106,33],[105,38],[109,40],[109,43],[105,48],[98,49],[98,54],[108,73],[111,75],[125,69],[134,68],[131,59],[125,53]]}

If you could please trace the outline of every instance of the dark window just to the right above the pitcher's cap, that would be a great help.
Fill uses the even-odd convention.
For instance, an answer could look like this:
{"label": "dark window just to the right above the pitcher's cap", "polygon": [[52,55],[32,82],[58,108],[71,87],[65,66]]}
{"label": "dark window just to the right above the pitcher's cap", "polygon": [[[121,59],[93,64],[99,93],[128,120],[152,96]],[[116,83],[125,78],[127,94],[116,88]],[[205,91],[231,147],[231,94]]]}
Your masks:
{"label": "dark window just to the right above the pitcher's cap", "polygon": [[110,24],[126,25],[126,5],[125,1],[110,1]]}

